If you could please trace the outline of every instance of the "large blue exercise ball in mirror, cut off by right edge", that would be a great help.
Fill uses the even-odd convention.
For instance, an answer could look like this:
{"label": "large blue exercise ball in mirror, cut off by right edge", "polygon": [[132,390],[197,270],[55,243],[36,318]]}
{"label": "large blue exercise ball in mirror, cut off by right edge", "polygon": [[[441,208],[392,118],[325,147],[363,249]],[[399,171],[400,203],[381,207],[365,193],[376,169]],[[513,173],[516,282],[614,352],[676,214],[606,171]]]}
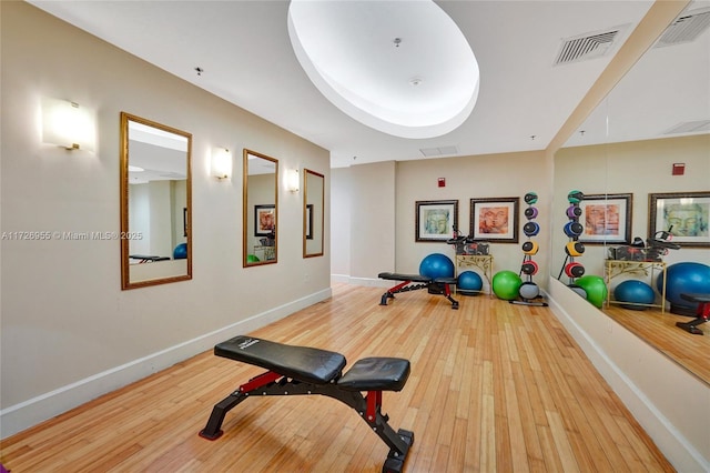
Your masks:
{"label": "large blue exercise ball in mirror, cut off by right edge", "polygon": [[[710,266],[702,263],[674,263],[666,268],[666,300],[670,311],[683,315],[694,315],[697,304],[680,298],[680,294],[710,294]],[[663,292],[663,273],[656,280],[659,294]]]}

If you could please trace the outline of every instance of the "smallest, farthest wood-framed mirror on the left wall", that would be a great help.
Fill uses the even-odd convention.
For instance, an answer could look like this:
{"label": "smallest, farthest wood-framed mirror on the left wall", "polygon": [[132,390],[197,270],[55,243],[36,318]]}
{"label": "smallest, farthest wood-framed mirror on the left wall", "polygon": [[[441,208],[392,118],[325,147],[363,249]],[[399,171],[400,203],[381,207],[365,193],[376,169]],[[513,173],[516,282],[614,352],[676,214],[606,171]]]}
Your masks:
{"label": "smallest, farthest wood-framed mirror on the left wall", "polygon": [[303,188],[303,258],[322,256],[325,177],[304,169]]}

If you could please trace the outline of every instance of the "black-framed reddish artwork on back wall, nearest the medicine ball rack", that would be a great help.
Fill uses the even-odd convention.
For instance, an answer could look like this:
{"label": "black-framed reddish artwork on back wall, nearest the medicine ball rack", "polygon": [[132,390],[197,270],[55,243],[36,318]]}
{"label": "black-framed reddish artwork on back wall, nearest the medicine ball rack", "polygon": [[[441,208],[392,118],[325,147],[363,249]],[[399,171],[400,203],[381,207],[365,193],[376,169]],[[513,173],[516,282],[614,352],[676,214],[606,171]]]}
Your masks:
{"label": "black-framed reddish artwork on back wall, nearest the medicine ball rack", "polygon": [[470,200],[470,232],[474,240],[518,242],[520,198]]}

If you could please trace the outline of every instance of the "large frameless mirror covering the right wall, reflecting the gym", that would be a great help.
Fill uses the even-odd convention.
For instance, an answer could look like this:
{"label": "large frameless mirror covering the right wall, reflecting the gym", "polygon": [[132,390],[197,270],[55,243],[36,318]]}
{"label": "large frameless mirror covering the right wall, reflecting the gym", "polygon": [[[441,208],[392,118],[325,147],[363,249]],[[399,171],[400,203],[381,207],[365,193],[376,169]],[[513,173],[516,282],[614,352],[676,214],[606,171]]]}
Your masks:
{"label": "large frameless mirror covering the right wall, reflecting the gym", "polygon": [[[575,262],[604,281],[587,278],[580,295],[708,384],[710,362],[694,353],[710,348],[710,328],[697,336],[677,323],[694,313],[681,314],[680,293],[707,292],[686,281],[710,284],[710,29],[686,29],[709,4],[691,3],[556,153],[551,266],[579,291],[565,269],[568,193],[580,190]],[[692,229],[678,209],[696,212]]]}

